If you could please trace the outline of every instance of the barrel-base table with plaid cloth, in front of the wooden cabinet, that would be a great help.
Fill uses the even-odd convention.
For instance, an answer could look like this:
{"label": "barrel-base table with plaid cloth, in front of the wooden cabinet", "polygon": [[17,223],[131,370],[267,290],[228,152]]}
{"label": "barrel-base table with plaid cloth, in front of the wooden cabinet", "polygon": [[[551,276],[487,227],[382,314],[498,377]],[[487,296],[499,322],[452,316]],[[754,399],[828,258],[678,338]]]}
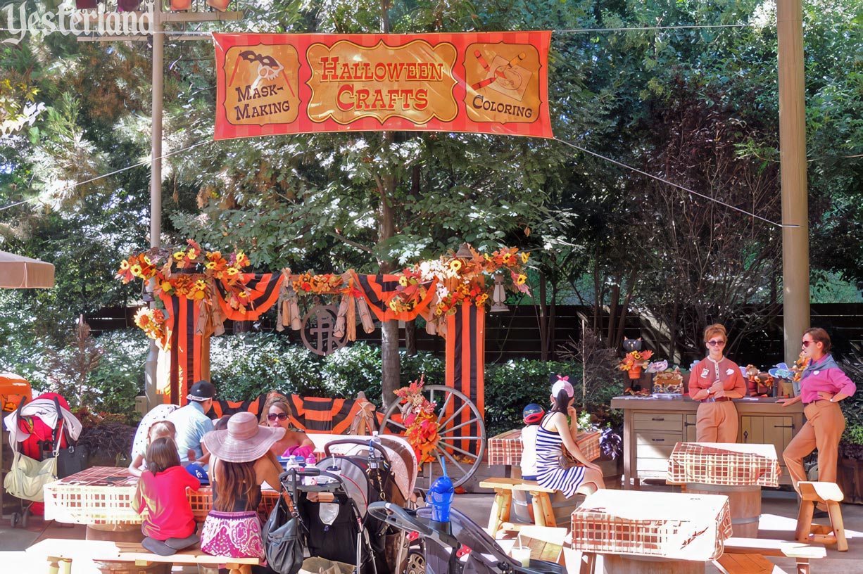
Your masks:
{"label": "barrel-base table with plaid cloth, in front of the wooden cabinet", "polygon": [[728,496],[734,536],[758,538],[761,487],[778,487],[773,445],[678,442],[668,459],[668,484],[686,492]]}

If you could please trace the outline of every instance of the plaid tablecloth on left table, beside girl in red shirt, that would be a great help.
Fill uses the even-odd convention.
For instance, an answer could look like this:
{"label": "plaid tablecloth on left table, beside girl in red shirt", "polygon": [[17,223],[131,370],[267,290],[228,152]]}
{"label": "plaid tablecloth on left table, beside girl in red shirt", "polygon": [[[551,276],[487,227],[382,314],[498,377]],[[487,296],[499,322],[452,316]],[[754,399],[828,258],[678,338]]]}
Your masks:
{"label": "plaid tablecloth on left table, beside girl in red shirt", "polygon": [[[70,477],[46,484],[45,520],[69,524],[140,524],[132,509],[138,478],[125,468],[93,466]],[[269,515],[279,499],[274,490],[261,492],[258,512]],[[195,520],[203,522],[212,507],[212,490],[202,486],[188,492]]]}

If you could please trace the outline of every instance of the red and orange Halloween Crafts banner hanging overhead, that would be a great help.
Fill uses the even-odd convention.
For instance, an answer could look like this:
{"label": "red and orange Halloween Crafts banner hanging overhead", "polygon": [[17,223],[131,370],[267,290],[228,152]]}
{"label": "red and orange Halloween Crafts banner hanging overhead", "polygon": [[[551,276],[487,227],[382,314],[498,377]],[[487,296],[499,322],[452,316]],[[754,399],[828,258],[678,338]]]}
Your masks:
{"label": "red and orange Halloween Crafts banner hanging overhead", "polygon": [[213,34],[217,140],[367,130],[551,138],[551,32]]}

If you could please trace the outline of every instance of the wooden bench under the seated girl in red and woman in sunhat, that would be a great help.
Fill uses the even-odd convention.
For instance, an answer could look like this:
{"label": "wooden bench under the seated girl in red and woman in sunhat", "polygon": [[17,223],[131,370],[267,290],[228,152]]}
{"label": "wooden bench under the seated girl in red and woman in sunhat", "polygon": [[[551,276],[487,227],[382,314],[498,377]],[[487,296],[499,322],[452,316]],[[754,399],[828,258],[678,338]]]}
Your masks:
{"label": "wooden bench under the seated girl in red and woman in sunhat", "polygon": [[[28,554],[44,556],[48,562],[48,573],[57,574],[60,563],[71,566],[76,559],[91,560],[97,563],[99,571],[109,574],[115,571],[112,565],[133,564],[141,571],[170,572],[171,565],[198,565],[199,572],[216,571],[219,565],[225,565],[230,574],[249,574],[252,565],[260,565],[258,558],[231,558],[230,556],[211,556],[201,552],[195,545],[186,550],[180,550],[171,556],[160,556],[148,552],[140,544],[132,542],[110,542],[108,540],[61,540],[46,539],[30,546]],[[71,563],[71,564],[70,564]],[[64,567],[64,574],[69,570]]]}

